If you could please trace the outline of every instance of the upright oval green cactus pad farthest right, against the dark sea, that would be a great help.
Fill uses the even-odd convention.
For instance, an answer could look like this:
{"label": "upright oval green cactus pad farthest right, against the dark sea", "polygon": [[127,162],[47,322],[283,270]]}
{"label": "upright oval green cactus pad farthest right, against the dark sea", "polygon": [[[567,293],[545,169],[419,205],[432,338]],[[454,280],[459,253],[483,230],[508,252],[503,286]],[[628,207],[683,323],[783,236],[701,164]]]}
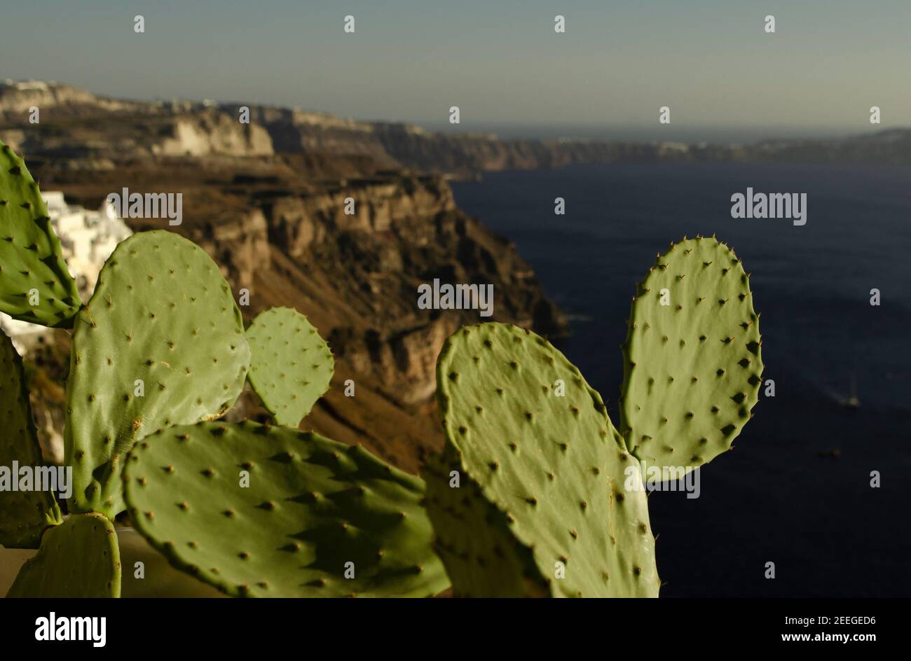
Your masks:
{"label": "upright oval green cactus pad farthest right, against the dark sea", "polygon": [[759,397],[761,343],[732,249],[684,239],[657,259],[632,303],[620,401],[621,430],[647,476],[655,467],[680,477],[731,449]]}

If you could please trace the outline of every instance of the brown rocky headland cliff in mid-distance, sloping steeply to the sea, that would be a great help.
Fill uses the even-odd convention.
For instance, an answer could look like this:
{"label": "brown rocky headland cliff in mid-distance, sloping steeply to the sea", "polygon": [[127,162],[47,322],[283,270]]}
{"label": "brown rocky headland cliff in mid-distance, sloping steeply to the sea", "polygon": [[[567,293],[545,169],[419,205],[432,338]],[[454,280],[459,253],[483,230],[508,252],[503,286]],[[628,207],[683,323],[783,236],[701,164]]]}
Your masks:
{"label": "brown rocky headland cliff in mid-distance, sloping steeply to the sea", "polygon": [[[249,206],[235,198],[217,218],[206,215],[210,199],[185,194],[193,220],[177,229],[212,254],[235,289],[251,291],[245,313],[307,300],[298,307],[336,356],[374,377],[389,400],[429,400],[443,341],[462,323],[480,320],[471,310],[419,310],[423,282],[493,284],[493,320],[565,331],[515,247],[459,211],[442,178],[388,174],[296,189],[288,183],[236,188]],[[353,215],[344,213],[345,198],[354,200]]]}

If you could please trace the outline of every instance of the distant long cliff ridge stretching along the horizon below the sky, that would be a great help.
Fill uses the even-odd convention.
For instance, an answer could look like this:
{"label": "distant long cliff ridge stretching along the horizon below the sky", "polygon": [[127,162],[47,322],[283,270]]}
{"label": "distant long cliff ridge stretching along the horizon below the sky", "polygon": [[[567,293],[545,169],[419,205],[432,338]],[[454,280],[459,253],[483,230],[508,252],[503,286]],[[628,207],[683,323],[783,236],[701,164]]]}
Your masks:
{"label": "distant long cliff ridge stretching along the horizon below the sky", "polygon": [[[28,123],[28,109],[33,106],[41,109],[39,125]],[[249,109],[250,124],[240,123],[241,107]],[[41,81],[0,83],[0,139],[30,154],[65,159],[64,167],[70,169],[96,170],[110,168],[118,158],[187,155],[355,159],[361,168],[354,176],[365,174],[363,165],[369,162],[367,170],[410,168],[455,177],[616,161],[911,162],[909,129],[743,146],[499,139],[250,103],[124,101]],[[329,169],[338,176],[336,165]]]}

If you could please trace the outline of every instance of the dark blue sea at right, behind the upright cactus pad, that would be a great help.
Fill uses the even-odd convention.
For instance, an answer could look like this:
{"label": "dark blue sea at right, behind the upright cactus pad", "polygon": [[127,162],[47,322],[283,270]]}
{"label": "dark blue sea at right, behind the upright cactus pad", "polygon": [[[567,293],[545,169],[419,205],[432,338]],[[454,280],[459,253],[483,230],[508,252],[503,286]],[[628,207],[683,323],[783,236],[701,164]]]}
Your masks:
{"label": "dark blue sea at right, behind the upright cactus pad", "polygon": [[[806,193],[806,225],[732,219],[747,187]],[[602,164],[453,188],[569,315],[558,347],[615,424],[619,343],[655,254],[714,233],[752,272],[775,396],[701,469],[699,498],[650,495],[662,596],[911,595],[911,168]]]}

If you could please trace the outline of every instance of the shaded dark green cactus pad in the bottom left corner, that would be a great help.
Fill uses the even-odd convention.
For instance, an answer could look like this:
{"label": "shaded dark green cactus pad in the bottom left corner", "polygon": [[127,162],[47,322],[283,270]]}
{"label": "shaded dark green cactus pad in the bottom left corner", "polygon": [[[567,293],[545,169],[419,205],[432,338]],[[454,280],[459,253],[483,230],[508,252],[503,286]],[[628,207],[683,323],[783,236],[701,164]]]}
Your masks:
{"label": "shaded dark green cactus pad in the bottom left corner", "polygon": [[120,553],[114,525],[100,514],[73,514],[50,528],[6,596],[120,596]]}

